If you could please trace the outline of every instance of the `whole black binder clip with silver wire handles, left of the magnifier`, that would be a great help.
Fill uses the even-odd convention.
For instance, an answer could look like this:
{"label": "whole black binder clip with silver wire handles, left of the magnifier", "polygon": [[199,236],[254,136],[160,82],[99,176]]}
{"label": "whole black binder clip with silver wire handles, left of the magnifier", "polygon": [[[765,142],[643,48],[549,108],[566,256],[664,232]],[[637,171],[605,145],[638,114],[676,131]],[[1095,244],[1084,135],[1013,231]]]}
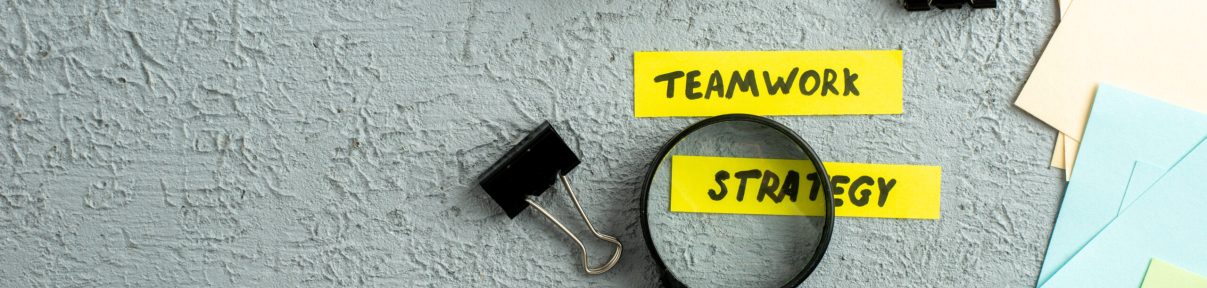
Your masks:
{"label": "whole black binder clip with silver wire handles, left of the magnifier", "polygon": [[[566,174],[573,170],[575,166],[578,166],[578,155],[561,140],[558,131],[553,130],[553,125],[549,122],[544,122],[525,136],[519,145],[508,151],[507,154],[503,154],[503,158],[490,165],[490,169],[486,169],[478,177],[478,186],[482,186],[482,189],[486,194],[490,194],[490,198],[507,212],[507,217],[515,218],[517,214],[529,206],[544,214],[544,218],[558,225],[562,233],[578,245],[583,257],[583,270],[589,275],[599,275],[607,272],[620,260],[622,246],[620,241],[616,237],[595,230],[591,221],[587,218],[587,212],[583,211],[583,205],[578,202],[575,189],[570,187],[570,178],[566,177]],[[616,252],[612,253],[612,258],[604,265],[591,268],[587,258],[587,246],[583,246],[583,241],[578,240],[578,236],[575,236],[570,229],[566,229],[566,225],[561,224],[553,214],[549,214],[549,211],[546,211],[544,207],[541,207],[533,200],[536,196],[543,194],[544,190],[553,187],[554,182],[559,181],[566,189],[566,193],[570,194],[575,207],[578,208],[578,214],[583,217],[583,222],[587,223],[587,228],[591,230],[591,234],[595,234],[595,237],[600,240],[616,245]]]}

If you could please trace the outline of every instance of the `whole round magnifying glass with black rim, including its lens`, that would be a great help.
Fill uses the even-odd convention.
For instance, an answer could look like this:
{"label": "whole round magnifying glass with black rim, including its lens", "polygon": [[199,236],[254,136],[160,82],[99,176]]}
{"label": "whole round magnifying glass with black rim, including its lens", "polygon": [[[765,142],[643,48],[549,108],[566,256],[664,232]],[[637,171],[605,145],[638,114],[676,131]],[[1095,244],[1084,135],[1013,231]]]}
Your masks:
{"label": "whole round magnifying glass with black rim, including its lens", "polygon": [[775,121],[724,114],[683,129],[643,184],[641,227],[663,286],[799,286],[829,243],[828,180],[805,140]]}

